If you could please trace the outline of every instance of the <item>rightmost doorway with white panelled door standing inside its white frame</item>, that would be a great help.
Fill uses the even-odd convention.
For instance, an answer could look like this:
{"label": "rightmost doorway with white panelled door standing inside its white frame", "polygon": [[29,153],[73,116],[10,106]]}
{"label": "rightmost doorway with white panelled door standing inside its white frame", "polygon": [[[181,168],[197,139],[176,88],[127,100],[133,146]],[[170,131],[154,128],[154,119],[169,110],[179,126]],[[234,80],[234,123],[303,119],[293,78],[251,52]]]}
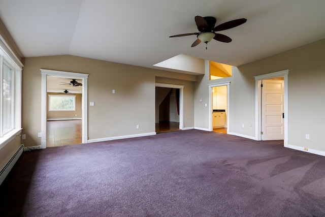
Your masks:
{"label": "rightmost doorway with white panelled door standing inside its white frame", "polygon": [[255,76],[257,140],[288,144],[288,70]]}

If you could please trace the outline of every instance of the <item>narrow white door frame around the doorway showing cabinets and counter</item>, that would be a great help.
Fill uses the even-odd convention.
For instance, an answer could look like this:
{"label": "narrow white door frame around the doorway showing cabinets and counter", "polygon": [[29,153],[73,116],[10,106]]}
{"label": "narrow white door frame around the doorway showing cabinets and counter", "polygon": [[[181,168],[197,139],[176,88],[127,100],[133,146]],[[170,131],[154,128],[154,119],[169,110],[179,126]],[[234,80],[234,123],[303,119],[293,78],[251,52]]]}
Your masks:
{"label": "narrow white door frame around the doorway showing cabinets and counter", "polygon": [[216,84],[209,84],[209,131],[213,131],[212,126],[212,112],[213,112],[213,104],[212,104],[212,87],[217,86],[227,86],[227,134],[229,134],[229,117],[230,117],[230,82],[221,82]]}

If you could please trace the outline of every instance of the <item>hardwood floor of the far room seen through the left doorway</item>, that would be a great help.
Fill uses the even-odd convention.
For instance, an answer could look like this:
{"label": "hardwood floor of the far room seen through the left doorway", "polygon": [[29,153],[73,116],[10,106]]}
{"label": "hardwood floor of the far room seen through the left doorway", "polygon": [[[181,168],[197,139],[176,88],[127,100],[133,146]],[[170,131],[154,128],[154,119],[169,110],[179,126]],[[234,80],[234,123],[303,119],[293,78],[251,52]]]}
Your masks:
{"label": "hardwood floor of the far room seen through the left doorway", "polygon": [[46,137],[46,147],[80,144],[82,120],[47,121]]}

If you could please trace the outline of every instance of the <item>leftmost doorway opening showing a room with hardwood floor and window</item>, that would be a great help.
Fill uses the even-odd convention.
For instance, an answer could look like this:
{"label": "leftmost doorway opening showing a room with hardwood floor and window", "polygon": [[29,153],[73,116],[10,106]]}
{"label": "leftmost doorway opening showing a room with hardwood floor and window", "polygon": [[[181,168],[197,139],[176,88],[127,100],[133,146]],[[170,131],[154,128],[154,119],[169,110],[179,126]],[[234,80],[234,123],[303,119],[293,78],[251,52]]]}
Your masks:
{"label": "leftmost doorway opening showing a room with hardwood floor and window", "polygon": [[82,143],[82,80],[47,76],[46,147]]}

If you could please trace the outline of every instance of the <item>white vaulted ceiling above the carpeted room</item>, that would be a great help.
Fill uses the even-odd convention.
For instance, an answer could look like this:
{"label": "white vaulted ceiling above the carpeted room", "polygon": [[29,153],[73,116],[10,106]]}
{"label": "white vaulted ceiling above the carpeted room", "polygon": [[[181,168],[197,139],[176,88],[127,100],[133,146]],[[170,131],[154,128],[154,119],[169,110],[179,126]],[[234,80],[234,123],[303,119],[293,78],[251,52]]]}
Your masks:
{"label": "white vaulted ceiling above the carpeted room", "polygon": [[[117,63],[153,65],[179,54],[240,66],[325,38],[323,0],[0,0],[0,18],[24,57],[70,54]],[[191,48],[195,16],[221,24],[231,43]],[[162,69],[162,68],[161,68]],[[186,73],[186,72],[185,72]]]}

